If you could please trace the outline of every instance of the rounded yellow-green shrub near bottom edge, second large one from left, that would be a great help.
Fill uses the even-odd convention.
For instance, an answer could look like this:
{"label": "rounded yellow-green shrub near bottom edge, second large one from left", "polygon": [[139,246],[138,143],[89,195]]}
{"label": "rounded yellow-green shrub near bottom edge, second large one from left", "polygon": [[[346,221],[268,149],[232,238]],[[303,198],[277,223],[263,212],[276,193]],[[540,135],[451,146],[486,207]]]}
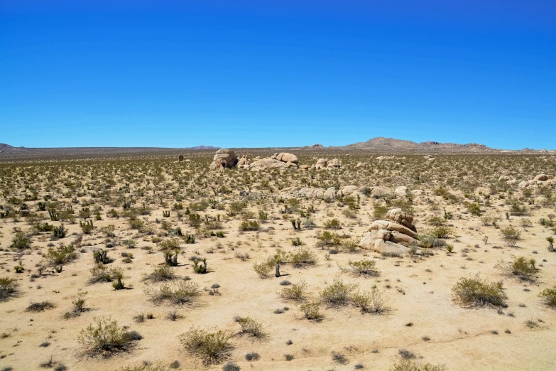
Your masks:
{"label": "rounded yellow-green shrub near bottom edge, second large one from left", "polygon": [[192,328],[179,337],[185,350],[200,357],[205,365],[222,362],[229,357],[232,349],[229,338],[231,334],[224,330],[209,333],[197,328]]}

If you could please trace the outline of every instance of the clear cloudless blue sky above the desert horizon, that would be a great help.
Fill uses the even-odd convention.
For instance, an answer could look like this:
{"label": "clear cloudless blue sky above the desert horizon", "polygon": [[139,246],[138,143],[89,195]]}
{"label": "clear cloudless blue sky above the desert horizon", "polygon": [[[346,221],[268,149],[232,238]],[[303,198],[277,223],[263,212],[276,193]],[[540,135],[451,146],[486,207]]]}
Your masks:
{"label": "clear cloudless blue sky above the desert horizon", "polygon": [[0,142],[374,136],[556,149],[556,1],[0,0]]}

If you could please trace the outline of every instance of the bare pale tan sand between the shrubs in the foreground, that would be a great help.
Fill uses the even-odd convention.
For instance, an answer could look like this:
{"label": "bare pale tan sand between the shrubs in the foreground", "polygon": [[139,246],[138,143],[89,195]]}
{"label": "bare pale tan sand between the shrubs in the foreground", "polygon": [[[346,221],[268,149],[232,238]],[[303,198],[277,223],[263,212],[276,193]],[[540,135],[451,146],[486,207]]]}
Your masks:
{"label": "bare pale tan sand between the shrubs in the foreground", "polygon": [[[430,229],[425,224],[428,216],[441,216],[442,208],[452,211],[454,219],[448,222],[453,233],[447,239],[454,245],[452,254],[447,254],[445,249],[435,249],[430,257],[385,258],[376,252],[359,250],[354,254],[330,254],[327,259],[327,249],[318,247],[315,237],[318,231],[324,230],[322,225],[330,218],[327,215],[333,213],[341,221],[342,230],[337,232],[359,240],[373,220],[374,204],[370,198],[362,200],[355,219],[344,217],[340,212],[342,207],[336,203],[303,200],[302,205],[315,205],[317,211],[312,217],[317,227],[300,232],[294,232],[288,220],[280,219],[280,205],[271,205],[268,209],[269,215],[278,220],[261,224],[261,228],[274,227],[272,233],[239,232],[240,217],[224,217],[222,210],[208,208],[201,214],[223,215],[222,230],[226,237],[197,238],[195,244],[182,244],[175,272],[178,277],[190,276],[202,289],[217,283],[221,286],[221,295],[210,296],[202,291],[200,299],[190,306],[148,301],[143,293],[146,282],[142,276],[163,263],[163,256],[150,237],[131,230],[124,218],[107,217],[109,207],[103,209],[103,220],[94,222],[94,232],[83,236],[78,259],[66,264],[60,274],[48,270],[31,280],[36,264],[43,261],[40,253],[48,249],[50,232],[33,236],[32,249],[21,257],[23,273],[13,271],[19,261],[14,261],[13,255],[0,255],[0,276],[15,277],[20,283],[18,296],[0,302],[0,333],[5,334],[0,338],[0,368],[41,370],[40,364],[52,356],[68,370],[116,370],[126,365],[141,365],[143,361],[168,365],[175,360],[180,364],[179,370],[221,370],[222,364],[204,367],[199,358],[186,353],[178,342],[180,333],[198,326],[237,334],[231,338],[234,350],[229,360],[236,362],[241,370],[353,370],[357,364],[363,365],[364,370],[388,370],[400,359],[400,349],[410,350],[423,361],[445,364],[448,370],[556,370],[556,310],[544,306],[538,298],[542,289],[556,283],[556,254],[547,251],[545,241],[552,232],[538,223],[540,217],[554,213],[554,207],[531,210],[527,217],[533,220],[533,227],[526,230],[520,227],[522,239],[516,247],[509,247],[501,240],[498,230],[482,225],[479,218],[466,213],[461,204],[444,204],[442,198],[432,194],[432,187],[421,185],[421,188],[425,192],[413,200],[415,225],[418,231]],[[427,202],[430,199],[441,207],[431,210]],[[499,201],[494,200],[494,206],[488,209],[489,215],[500,215],[501,227],[510,223],[519,226],[521,217],[505,220],[503,212],[507,206]],[[257,213],[256,204],[250,203],[249,208]],[[185,219],[178,220],[175,213],[164,218],[165,208],[152,205],[151,209],[151,215],[147,216],[150,222],[156,218],[168,220],[180,226],[184,233],[195,233],[195,228]],[[109,266],[124,269],[124,283],[129,288],[126,290],[116,291],[109,283],[89,284],[89,269],[94,267],[92,252],[104,247],[106,236],[101,230],[109,224],[116,225],[119,240],[136,240],[134,249],[122,244],[108,249],[109,257],[115,259]],[[3,219],[0,226],[0,246],[6,250],[13,238],[13,227],[29,228],[23,219],[19,222]],[[68,236],[55,244],[67,244],[76,238],[72,233],[82,233],[79,224],[65,223],[65,226]],[[486,244],[484,235],[489,236]],[[298,248],[290,243],[295,237],[315,252],[317,264],[302,268],[284,264],[280,278],[259,278],[252,267],[254,262],[262,262],[278,248],[295,251]],[[153,252],[140,248],[144,246],[152,246]],[[133,253],[133,262],[122,262],[121,252]],[[236,252],[249,253],[249,259],[241,261],[235,257]],[[208,274],[192,271],[187,258],[196,254],[207,258]],[[502,276],[494,269],[500,259],[508,260],[511,255],[536,259],[538,280],[534,283],[520,281]],[[376,259],[379,276],[356,276],[342,271],[349,262],[364,257]],[[508,308],[498,313],[496,308],[461,308],[452,301],[452,286],[457,280],[477,273],[490,281],[503,280]],[[278,294],[283,288],[279,284],[283,279],[292,283],[305,280],[315,298],[334,279],[359,284],[360,289],[376,285],[385,291],[391,311],[372,315],[361,313],[354,306],[323,306],[323,320],[308,321],[299,303],[285,301]],[[90,311],[66,320],[62,316],[71,310],[78,290],[87,291]],[[55,308],[40,313],[26,311],[31,301],[45,300],[54,303]],[[273,313],[285,306],[289,308],[285,313]],[[166,319],[173,309],[182,318]],[[154,318],[136,323],[133,316],[138,313],[153,313]],[[143,339],[129,352],[109,358],[89,357],[77,337],[95,316],[111,316],[120,325],[137,330]],[[234,316],[249,316],[260,321],[266,336],[256,339],[240,335]],[[525,326],[528,320],[535,321],[538,326],[528,328]],[[413,326],[406,326],[408,323]],[[428,340],[425,341],[425,337]],[[291,340],[290,345],[288,340]],[[44,342],[50,345],[41,347]],[[247,362],[245,355],[249,352],[258,353],[260,359]],[[344,354],[349,362],[345,365],[334,362],[332,352]],[[285,360],[286,354],[293,355],[293,360]]]}

